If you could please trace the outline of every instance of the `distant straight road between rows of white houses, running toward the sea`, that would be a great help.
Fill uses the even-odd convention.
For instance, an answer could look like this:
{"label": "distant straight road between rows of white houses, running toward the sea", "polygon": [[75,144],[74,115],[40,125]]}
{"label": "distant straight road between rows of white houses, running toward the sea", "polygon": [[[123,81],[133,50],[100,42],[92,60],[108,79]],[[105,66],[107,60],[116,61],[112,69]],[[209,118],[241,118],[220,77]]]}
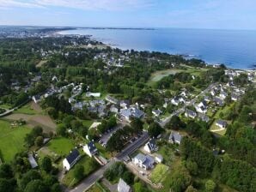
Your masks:
{"label": "distant straight road between rows of white houses, running toward the sea", "polygon": [[204,89],[203,92],[199,93],[196,97],[194,97],[192,100],[190,100],[189,102],[187,102],[185,105],[183,105],[180,109],[174,111],[170,116],[166,117],[165,119],[163,119],[161,122],[158,122],[162,128],[170,121],[170,119],[173,116],[179,116],[180,113],[185,112],[186,110],[186,106],[189,105],[194,105],[196,100],[198,99],[198,97],[205,95],[205,93],[210,92],[210,89],[212,89],[212,87],[214,87],[216,84],[211,84],[209,87],[207,87],[206,89]]}

